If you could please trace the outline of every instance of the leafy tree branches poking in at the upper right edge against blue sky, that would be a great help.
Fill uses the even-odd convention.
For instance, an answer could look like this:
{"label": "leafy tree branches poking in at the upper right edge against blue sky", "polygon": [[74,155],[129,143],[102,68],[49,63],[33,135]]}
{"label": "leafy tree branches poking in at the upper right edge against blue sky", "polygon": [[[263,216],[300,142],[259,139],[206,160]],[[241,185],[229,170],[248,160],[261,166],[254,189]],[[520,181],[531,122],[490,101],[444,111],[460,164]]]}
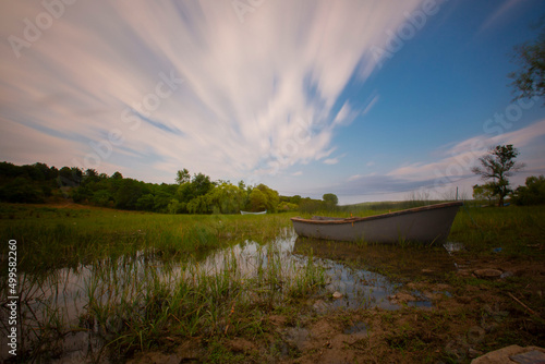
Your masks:
{"label": "leafy tree branches poking in at the upper right edge against blue sky", "polygon": [[514,48],[514,61],[520,70],[511,72],[511,85],[518,94],[516,98],[545,96],[545,22],[541,23],[541,33],[533,43],[525,43]]}

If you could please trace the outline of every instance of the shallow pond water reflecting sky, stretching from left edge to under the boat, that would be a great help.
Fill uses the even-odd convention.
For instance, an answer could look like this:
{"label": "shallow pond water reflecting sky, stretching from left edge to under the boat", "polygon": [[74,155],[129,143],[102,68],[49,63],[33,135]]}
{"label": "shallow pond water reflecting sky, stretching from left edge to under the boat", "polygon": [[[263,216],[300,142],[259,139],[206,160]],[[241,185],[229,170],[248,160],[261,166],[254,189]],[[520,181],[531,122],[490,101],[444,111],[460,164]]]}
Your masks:
{"label": "shallow pond water reflecting sky, stretching from left edge to under the boat", "polygon": [[[161,292],[152,286],[175,290],[180,281],[201,282],[206,286],[203,294],[238,289],[237,300],[270,305],[288,302],[286,296],[301,296],[303,311],[322,314],[339,308],[399,308],[390,298],[404,283],[422,275],[439,279],[449,270],[455,265],[445,248],[298,239],[292,230],[284,230],[267,244],[245,241],[201,259],[172,263],[140,253],[40,277],[21,274],[17,325],[23,336],[19,345],[29,357],[48,357],[51,363],[81,363],[92,357],[107,363],[104,343],[113,340],[112,332],[126,323],[123,314],[114,312],[144,295],[148,299],[149,292]],[[308,283],[315,289],[307,291],[310,281],[319,284]],[[411,304],[432,305],[419,292],[413,294],[417,300]],[[143,308],[134,310],[140,314]],[[100,320],[100,315],[106,318]],[[3,305],[0,321],[7,323],[8,316]],[[217,326],[218,330],[228,328]],[[7,330],[3,324],[0,361],[11,356]],[[59,330],[63,332],[59,335]]]}

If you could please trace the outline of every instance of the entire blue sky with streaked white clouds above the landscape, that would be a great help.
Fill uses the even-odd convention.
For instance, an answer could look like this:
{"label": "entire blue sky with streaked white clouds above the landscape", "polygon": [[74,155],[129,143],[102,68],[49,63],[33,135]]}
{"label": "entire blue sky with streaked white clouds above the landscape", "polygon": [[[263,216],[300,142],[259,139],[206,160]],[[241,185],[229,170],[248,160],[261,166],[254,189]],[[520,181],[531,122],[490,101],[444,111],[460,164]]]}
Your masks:
{"label": "entire blue sky with streaked white clouds above the landscape", "polygon": [[545,173],[543,100],[513,101],[541,0],[2,2],[0,160],[173,183],[187,168],[342,204],[471,197],[513,144]]}

